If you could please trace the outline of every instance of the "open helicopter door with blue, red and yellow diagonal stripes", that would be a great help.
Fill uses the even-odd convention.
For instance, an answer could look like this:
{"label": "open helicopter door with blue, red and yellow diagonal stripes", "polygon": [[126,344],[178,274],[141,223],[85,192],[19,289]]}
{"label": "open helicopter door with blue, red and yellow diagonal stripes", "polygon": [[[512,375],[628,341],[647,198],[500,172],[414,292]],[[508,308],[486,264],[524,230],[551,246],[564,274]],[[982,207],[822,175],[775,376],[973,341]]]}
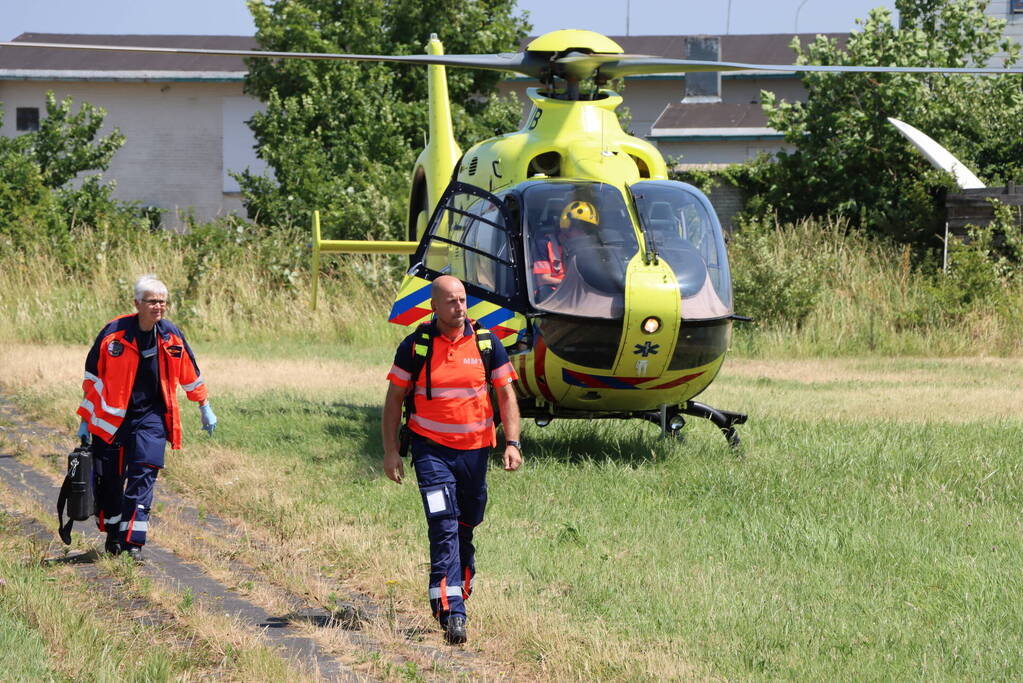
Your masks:
{"label": "open helicopter door with blue, red and yellow diagonal stripes", "polygon": [[503,199],[453,182],[437,203],[391,311],[391,322],[429,320],[430,285],[453,275],[465,285],[469,316],[505,346],[526,327],[522,236]]}

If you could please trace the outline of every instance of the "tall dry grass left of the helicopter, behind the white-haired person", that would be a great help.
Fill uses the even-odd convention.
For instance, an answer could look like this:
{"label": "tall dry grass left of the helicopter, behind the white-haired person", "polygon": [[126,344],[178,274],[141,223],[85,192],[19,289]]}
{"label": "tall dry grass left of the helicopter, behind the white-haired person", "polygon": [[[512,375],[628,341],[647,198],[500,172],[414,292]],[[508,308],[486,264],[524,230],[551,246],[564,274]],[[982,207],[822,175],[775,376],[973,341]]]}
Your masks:
{"label": "tall dry grass left of the helicopter, behind the white-haired person", "polygon": [[[207,226],[191,235],[76,229],[72,246],[0,249],[0,342],[91,343],[110,318],[133,311],[132,285],[155,273],[170,288],[168,318],[194,342],[260,354],[282,339],[294,353],[329,355],[356,336],[367,353],[391,347],[386,322],[393,261],[351,259],[320,279],[310,308],[307,236]],[[324,270],[330,270],[328,264]],[[389,286],[381,286],[386,280]]]}

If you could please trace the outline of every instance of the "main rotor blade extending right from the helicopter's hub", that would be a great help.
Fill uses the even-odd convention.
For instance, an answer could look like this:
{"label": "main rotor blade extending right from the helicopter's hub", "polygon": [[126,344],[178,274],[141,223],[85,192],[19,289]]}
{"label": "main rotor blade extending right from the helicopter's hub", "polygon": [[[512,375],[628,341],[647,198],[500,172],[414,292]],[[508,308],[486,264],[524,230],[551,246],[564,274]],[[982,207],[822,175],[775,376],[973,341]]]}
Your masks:
{"label": "main rotor blade extending right from the helicopter's hub", "polygon": [[[581,55],[597,57],[604,55]],[[999,69],[993,66],[821,66],[817,64],[747,64],[739,61],[697,61],[691,59],[666,59],[643,55],[608,55],[614,57],[603,60],[596,66],[597,75],[608,79],[631,76],[633,74],[686,74],[695,72],[786,72],[786,73],[831,73],[831,74],[1023,74],[1023,67]],[[574,55],[563,57],[559,62],[576,60]]]}

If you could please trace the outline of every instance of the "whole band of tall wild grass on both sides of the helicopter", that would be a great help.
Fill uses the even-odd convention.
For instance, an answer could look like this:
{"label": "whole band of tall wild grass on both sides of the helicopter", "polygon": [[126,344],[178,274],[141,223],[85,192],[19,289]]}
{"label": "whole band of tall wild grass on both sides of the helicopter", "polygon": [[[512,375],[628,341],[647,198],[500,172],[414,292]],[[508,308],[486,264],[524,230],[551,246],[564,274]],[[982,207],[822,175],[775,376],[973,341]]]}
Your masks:
{"label": "whole band of tall wild grass on both sides of the helicopter", "polygon": [[[394,257],[325,264],[310,310],[301,229],[225,222],[189,235],[107,227],[72,237],[16,248],[0,239],[0,342],[88,343],[131,310],[133,280],[148,272],[171,288],[168,317],[214,348],[261,354],[294,339],[288,353],[344,348],[348,358],[380,360],[402,333],[385,322],[401,272]],[[743,355],[1023,352],[1023,277],[983,275],[990,281],[978,286],[830,220],[747,226],[729,255],[737,313],[756,321],[738,325]]]}

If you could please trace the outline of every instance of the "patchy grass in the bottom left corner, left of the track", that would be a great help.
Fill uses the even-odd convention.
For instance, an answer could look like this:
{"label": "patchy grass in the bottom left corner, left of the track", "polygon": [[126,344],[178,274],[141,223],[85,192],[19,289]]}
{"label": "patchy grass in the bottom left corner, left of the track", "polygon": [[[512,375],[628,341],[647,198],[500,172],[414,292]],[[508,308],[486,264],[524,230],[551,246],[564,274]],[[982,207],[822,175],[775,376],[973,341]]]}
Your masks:
{"label": "patchy grass in the bottom left corner, left of the track", "polygon": [[78,576],[25,526],[33,511],[17,513],[0,510],[0,680],[309,680],[230,620],[157,594],[131,562]]}

